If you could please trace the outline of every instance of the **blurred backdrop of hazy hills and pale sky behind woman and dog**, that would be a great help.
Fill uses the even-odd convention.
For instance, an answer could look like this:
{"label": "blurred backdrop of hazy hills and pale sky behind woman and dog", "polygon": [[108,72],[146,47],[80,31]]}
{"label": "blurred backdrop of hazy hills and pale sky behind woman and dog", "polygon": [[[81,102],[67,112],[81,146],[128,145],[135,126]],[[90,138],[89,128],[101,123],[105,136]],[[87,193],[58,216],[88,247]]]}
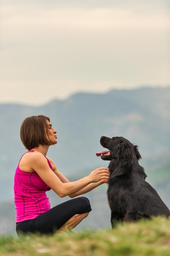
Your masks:
{"label": "blurred backdrop of hazy hills and pale sky behind woman and dog", "polygon": [[[139,146],[146,180],[170,208],[170,16],[162,0],[1,0],[0,234],[15,234],[13,177],[26,149],[20,125],[50,117],[48,151],[70,181],[109,162],[100,137]],[[76,229],[111,227],[107,184]],[[69,198],[47,192],[51,206]]]}

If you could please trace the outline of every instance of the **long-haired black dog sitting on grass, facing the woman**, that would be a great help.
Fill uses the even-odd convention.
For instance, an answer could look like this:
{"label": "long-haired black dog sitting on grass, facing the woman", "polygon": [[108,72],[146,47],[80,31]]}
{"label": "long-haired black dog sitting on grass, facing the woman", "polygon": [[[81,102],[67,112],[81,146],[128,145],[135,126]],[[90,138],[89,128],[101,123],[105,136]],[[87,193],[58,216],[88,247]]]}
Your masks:
{"label": "long-haired black dog sitting on grass, facing the woman", "polygon": [[108,201],[111,209],[112,228],[116,221],[135,221],[142,217],[170,216],[155,189],[145,181],[144,168],[139,165],[141,155],[130,141],[123,137],[102,136],[100,144],[109,149],[96,153],[103,160],[110,160]]}

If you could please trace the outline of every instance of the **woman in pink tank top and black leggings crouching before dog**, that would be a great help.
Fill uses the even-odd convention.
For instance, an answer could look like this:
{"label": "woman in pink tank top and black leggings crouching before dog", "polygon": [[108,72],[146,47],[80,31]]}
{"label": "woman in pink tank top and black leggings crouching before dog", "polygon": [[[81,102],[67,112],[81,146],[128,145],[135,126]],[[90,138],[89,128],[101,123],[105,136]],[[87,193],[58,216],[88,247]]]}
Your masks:
{"label": "woman in pink tank top and black leggings crouching before dog", "polygon": [[[44,115],[27,117],[21,126],[20,137],[28,149],[20,159],[14,177],[16,231],[41,234],[76,227],[92,210],[85,197],[74,198],[107,183],[109,171],[98,168],[87,177],[69,182],[59,172],[52,159],[46,157],[49,146],[57,144],[57,131]],[[52,189],[68,200],[50,209],[46,191]]]}

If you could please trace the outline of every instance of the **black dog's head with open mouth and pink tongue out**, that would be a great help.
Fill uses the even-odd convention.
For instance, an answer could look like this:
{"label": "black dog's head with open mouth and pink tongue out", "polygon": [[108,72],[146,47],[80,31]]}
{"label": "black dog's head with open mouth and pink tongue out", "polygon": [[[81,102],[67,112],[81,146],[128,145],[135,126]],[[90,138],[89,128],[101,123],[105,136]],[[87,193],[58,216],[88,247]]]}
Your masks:
{"label": "black dog's head with open mouth and pink tongue out", "polygon": [[133,145],[129,140],[123,137],[113,137],[108,138],[102,136],[100,138],[100,144],[107,148],[109,151],[102,151],[100,153],[96,153],[97,156],[100,156],[103,160],[112,159],[132,159],[137,158],[137,160],[141,159],[141,155],[138,151],[136,145]]}

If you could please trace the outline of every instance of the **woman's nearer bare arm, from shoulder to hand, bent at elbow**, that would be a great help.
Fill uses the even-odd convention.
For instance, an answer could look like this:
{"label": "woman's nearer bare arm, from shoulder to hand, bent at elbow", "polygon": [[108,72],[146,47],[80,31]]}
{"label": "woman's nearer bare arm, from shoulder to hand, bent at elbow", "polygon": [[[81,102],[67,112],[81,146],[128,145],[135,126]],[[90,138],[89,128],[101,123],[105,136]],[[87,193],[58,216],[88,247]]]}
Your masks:
{"label": "woman's nearer bare arm, from shoulder to hand, bent at elbow", "polygon": [[84,177],[75,182],[63,183],[59,177],[50,169],[47,159],[39,152],[30,155],[30,166],[33,171],[35,171],[39,177],[60,197],[66,195],[74,194],[85,186],[92,182],[98,182],[100,180],[105,180],[109,177],[109,172],[107,168],[98,168],[87,177]]}

